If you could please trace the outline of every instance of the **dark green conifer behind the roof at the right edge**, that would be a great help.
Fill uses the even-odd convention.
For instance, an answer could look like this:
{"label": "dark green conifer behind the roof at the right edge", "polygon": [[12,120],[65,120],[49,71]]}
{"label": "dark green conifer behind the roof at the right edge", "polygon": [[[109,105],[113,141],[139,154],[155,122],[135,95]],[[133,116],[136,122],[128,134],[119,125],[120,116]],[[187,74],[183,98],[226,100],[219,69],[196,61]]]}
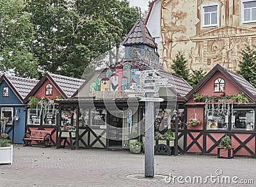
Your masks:
{"label": "dark green conifer behind the roof at the right edge", "polygon": [[247,45],[245,49],[241,51],[242,60],[239,61],[240,70],[237,71],[244,79],[248,80],[252,86],[256,87],[256,47],[250,47]]}

